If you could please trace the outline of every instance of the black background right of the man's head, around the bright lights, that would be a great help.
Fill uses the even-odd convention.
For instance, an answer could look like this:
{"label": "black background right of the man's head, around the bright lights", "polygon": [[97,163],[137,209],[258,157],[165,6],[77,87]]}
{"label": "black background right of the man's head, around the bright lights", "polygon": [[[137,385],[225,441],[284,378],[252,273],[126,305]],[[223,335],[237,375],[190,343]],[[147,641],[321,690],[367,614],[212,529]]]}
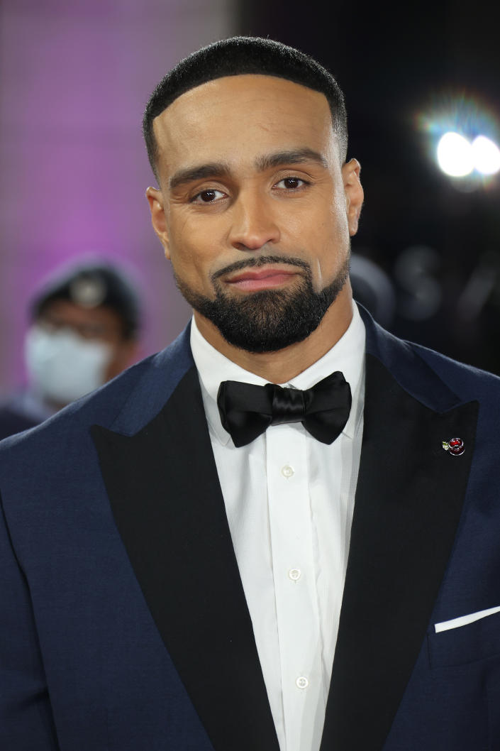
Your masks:
{"label": "black background right of the man's head, around the bright lights", "polygon": [[390,282],[371,288],[354,266],[358,299],[399,336],[500,373],[500,174],[450,179],[434,158],[456,113],[500,143],[497,16],[485,2],[255,0],[239,26],[312,54],[345,92],[365,189],[354,257]]}

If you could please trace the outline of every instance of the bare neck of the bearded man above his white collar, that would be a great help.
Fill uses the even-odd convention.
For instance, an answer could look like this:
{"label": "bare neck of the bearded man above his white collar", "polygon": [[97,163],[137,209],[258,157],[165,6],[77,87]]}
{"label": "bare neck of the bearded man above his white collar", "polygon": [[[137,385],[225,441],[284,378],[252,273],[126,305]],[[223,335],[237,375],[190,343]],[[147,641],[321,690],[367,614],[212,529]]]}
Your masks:
{"label": "bare neck of the bearded man above his white collar", "polygon": [[208,318],[194,312],[200,333],[233,363],[270,383],[287,383],[320,360],[344,335],[352,319],[352,291],[348,283],[324,315],[321,324],[303,342],[276,352],[248,352],[230,345]]}

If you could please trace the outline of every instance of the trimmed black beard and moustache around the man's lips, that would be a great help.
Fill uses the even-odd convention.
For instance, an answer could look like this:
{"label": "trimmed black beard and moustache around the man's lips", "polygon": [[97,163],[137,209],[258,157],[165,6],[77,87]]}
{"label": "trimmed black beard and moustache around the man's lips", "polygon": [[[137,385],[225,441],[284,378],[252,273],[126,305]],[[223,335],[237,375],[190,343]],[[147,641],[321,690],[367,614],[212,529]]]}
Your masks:
{"label": "trimmed black beard and moustache around the man's lips", "polygon": [[[292,264],[300,267],[300,279],[290,289],[268,289],[228,295],[219,279],[227,273],[266,264]],[[304,339],[318,328],[330,305],[345,285],[349,259],[329,285],[315,292],[311,267],[300,258],[265,256],[238,261],[212,275],[215,298],[205,297],[190,288],[174,271],[177,288],[194,310],[218,328],[234,347],[248,352],[276,352]]]}

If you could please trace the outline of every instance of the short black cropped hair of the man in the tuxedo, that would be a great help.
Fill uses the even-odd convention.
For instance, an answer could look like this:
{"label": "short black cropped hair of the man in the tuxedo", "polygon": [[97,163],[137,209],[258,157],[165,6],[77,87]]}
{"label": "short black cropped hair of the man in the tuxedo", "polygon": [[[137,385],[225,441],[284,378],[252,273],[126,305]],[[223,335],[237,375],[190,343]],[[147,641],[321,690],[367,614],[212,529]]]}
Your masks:
{"label": "short black cropped hair of the man in the tuxedo", "polygon": [[344,95],[333,75],[306,53],[273,39],[230,37],[202,47],[181,60],[152,92],[144,112],[143,135],[155,177],[158,177],[157,144],[152,125],[155,117],[196,86],[225,76],[245,74],[285,78],[324,94],[330,105],[333,130],[339,139],[339,155],[345,161],[347,113]]}

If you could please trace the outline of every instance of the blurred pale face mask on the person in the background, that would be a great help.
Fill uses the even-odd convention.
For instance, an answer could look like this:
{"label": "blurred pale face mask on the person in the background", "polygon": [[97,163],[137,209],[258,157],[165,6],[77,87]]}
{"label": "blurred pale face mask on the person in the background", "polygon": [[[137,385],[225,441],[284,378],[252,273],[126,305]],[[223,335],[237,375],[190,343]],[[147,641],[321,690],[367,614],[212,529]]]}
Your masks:
{"label": "blurred pale face mask on the person in the background", "polygon": [[103,385],[112,354],[110,345],[83,339],[71,329],[47,331],[35,325],[26,334],[30,385],[56,404],[74,402]]}

